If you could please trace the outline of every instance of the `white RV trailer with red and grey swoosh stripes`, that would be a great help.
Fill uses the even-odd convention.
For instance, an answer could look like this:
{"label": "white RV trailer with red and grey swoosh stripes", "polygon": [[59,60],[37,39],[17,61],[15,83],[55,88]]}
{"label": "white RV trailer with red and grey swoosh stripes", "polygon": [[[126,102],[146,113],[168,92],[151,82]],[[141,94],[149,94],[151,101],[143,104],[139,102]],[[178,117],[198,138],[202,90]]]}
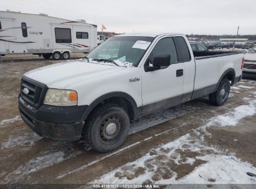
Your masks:
{"label": "white RV trailer with red and grey swoosh stripes", "polygon": [[71,52],[97,47],[97,25],[46,14],[0,11],[0,54],[32,53],[69,59]]}

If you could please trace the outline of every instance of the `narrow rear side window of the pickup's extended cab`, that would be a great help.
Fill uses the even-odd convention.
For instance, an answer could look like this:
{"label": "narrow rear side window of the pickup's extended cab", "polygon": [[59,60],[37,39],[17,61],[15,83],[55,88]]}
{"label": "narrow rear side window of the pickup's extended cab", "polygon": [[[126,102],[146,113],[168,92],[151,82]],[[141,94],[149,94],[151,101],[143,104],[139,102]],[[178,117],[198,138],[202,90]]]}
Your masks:
{"label": "narrow rear side window of the pickup's extended cab", "polygon": [[187,48],[187,43],[183,37],[174,37],[175,46],[178,53],[179,62],[189,62],[191,56],[189,53],[189,48]]}

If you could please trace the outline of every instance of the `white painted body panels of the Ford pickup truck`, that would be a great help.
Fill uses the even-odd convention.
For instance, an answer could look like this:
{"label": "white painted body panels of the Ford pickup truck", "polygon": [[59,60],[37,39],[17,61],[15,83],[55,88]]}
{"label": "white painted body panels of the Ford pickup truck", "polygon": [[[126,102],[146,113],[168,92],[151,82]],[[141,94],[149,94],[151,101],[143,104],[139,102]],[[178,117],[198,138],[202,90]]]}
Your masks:
{"label": "white painted body panels of the Ford pickup truck", "polygon": [[[138,34],[131,35],[138,36]],[[85,61],[69,61],[38,68],[25,75],[44,83],[48,88],[77,91],[78,106],[90,105],[95,99],[107,93],[123,92],[135,99],[138,107],[217,84],[222,73],[228,68],[235,70],[235,76],[242,75],[240,69],[242,53],[195,61],[185,35],[141,34],[141,36],[155,37],[155,39],[146,50],[138,67],[117,67]],[[170,65],[166,69],[145,72],[144,63],[154,45],[163,37],[174,36],[182,36],[186,39],[191,60]],[[178,69],[184,70],[183,76],[176,77]],[[140,78],[140,81],[130,82],[130,78]]]}

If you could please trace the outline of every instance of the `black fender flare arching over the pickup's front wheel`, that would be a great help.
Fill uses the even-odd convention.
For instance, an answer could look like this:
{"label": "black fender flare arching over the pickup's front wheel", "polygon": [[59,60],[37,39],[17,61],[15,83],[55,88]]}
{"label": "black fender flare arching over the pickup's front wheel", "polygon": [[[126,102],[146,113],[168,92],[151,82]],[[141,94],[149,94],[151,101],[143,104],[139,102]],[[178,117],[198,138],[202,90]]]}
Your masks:
{"label": "black fender flare arching over the pickup's front wheel", "polygon": [[111,93],[103,94],[99,98],[95,99],[83,113],[82,120],[86,120],[88,118],[88,115],[92,112],[92,110],[98,104],[100,104],[102,101],[104,101],[105,99],[108,99],[108,98],[113,98],[113,97],[125,98],[128,102],[131,103],[134,119],[136,119],[138,117],[138,106],[137,106],[135,100],[130,96],[130,94],[123,93],[123,92],[111,92]]}

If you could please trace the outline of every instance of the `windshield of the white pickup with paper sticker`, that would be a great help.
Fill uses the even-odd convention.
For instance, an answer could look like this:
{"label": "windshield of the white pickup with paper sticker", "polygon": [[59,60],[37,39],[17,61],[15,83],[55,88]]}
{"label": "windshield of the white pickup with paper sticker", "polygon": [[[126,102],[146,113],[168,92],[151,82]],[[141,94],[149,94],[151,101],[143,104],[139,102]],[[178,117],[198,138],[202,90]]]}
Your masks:
{"label": "windshield of the white pickup with paper sticker", "polygon": [[115,62],[118,65],[137,67],[153,37],[111,37],[87,55],[88,60]]}

